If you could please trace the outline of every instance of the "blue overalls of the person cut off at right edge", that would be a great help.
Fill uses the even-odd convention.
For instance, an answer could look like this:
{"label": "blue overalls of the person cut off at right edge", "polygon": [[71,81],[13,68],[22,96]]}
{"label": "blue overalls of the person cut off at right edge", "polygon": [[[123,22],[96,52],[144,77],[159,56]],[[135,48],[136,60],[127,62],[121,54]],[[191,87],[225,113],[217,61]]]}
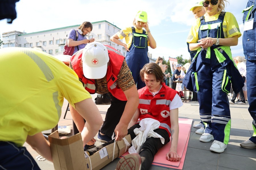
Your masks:
{"label": "blue overalls of the person cut off at right edge", "polygon": [[243,51],[246,61],[248,111],[253,118],[253,136],[249,139],[256,143],[256,4],[249,0],[243,10],[243,23],[253,18],[253,29],[243,32]]}

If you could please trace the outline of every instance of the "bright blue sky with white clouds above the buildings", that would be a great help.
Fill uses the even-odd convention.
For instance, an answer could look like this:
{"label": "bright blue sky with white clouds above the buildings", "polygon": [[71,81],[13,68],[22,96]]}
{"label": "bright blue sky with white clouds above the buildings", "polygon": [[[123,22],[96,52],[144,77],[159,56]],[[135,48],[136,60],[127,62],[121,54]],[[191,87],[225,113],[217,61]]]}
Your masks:
{"label": "bright blue sky with white clouds above the buildings", "polygon": [[[195,21],[189,9],[195,0],[20,0],[16,3],[17,18],[13,24],[0,20],[0,34],[8,31],[26,33],[81,24],[84,21],[107,20],[119,28],[132,26],[139,10],[148,13],[150,31],[156,40],[157,48],[149,48],[153,58],[158,56],[177,57],[181,54],[188,59],[186,38]],[[247,0],[229,0],[225,11],[236,17],[243,33],[241,13]],[[93,32],[93,30],[92,30]],[[1,36],[2,37],[2,36]],[[231,47],[233,56],[244,56],[242,37],[238,45]]]}

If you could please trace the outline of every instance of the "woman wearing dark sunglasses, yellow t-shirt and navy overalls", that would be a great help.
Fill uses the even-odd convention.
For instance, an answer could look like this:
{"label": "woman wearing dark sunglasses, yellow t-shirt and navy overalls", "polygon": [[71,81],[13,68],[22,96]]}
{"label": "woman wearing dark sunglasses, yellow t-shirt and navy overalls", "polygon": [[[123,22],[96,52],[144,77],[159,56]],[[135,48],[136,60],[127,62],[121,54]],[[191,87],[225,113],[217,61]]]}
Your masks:
{"label": "woman wearing dark sunglasses, yellow t-shirt and navy overalls", "polygon": [[[191,27],[187,42],[197,50],[186,82],[191,77],[192,90],[197,92],[200,118],[205,124],[201,142],[214,140],[210,150],[224,152],[230,136],[230,109],[227,94],[231,84],[241,90],[243,80],[234,62],[230,46],[238,44],[241,36],[234,15],[224,12],[226,0],[203,1],[205,15]],[[190,86],[190,82],[185,86]],[[239,89],[240,88],[240,89]]]}

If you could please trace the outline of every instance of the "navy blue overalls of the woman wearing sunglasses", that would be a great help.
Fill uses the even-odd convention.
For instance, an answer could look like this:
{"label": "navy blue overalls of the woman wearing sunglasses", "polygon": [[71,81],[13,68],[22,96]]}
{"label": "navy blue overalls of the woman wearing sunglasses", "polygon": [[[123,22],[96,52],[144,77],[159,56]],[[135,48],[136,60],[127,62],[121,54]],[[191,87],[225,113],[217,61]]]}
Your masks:
{"label": "navy blue overalls of the woman wearing sunglasses", "polygon": [[[216,21],[210,22],[205,22],[202,16],[199,39],[224,38],[222,29],[224,16],[225,13],[220,14]],[[212,45],[207,49],[199,48],[188,69],[188,75],[185,76],[185,81],[183,80],[188,89],[193,88],[192,90],[197,92],[199,113],[205,124],[205,133],[212,134],[214,140],[224,144],[228,144],[230,136],[231,119],[227,94],[231,88],[232,72],[238,80],[241,80],[241,75],[230,58],[232,58],[230,47]],[[235,90],[242,88],[243,80],[234,82],[234,85],[238,86]]]}

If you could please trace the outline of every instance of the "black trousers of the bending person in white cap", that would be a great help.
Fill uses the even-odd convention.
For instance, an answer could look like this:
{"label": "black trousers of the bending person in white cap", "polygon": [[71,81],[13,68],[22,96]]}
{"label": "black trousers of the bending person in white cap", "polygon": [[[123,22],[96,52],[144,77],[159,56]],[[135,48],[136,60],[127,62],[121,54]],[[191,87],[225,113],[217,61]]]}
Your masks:
{"label": "black trousers of the bending person in white cap", "polygon": [[[111,98],[111,105],[108,108],[105,121],[103,122],[100,132],[111,138],[114,133],[115,127],[117,126],[121,116],[123,115],[123,111],[125,109],[127,101],[121,101],[115,98],[111,93],[109,93],[109,96]],[[84,120],[84,122],[86,121]],[[79,131],[73,121],[73,134],[77,133],[79,133]]]}

